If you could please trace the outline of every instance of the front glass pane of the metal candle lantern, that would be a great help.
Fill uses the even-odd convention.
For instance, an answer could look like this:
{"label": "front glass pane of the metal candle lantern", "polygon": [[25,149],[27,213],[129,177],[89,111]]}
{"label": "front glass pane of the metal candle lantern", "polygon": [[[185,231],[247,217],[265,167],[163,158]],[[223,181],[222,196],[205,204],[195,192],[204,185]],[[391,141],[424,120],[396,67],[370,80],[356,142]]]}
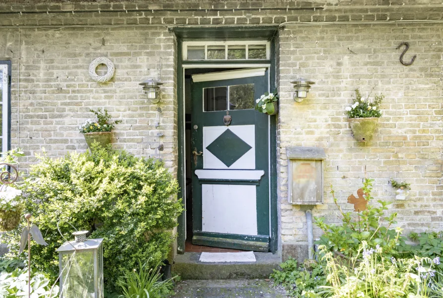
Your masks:
{"label": "front glass pane of the metal candle lantern", "polygon": [[62,297],[95,298],[93,250],[63,254]]}

